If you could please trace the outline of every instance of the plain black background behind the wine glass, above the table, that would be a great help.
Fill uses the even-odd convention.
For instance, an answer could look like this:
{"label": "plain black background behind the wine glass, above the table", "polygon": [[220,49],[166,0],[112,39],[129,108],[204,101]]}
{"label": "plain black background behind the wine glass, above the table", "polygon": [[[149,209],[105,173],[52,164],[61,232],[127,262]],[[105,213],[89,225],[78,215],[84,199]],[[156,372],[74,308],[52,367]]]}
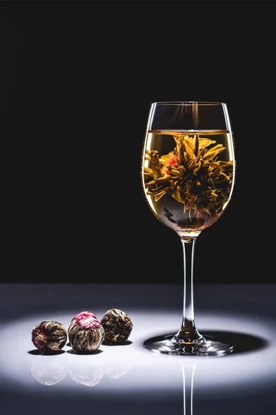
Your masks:
{"label": "plain black background behind the wine glass, above the table", "polygon": [[[226,102],[237,181],[195,282],[274,283],[271,1],[0,3],[2,282],[182,282],[140,183],[151,102]],[[5,128],[6,127],[6,128]]]}

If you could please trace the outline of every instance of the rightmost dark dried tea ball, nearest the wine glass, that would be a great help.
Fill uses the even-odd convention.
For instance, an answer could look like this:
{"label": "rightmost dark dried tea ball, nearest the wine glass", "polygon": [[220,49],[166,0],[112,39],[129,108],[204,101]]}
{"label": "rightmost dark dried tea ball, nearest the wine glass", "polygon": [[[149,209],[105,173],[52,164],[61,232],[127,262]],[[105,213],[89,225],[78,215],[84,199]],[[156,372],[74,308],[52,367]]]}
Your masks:
{"label": "rightmost dark dried tea ball, nearest the wine glass", "polygon": [[124,311],[112,308],[106,311],[101,318],[105,340],[112,343],[124,343],[132,331],[132,321],[130,316]]}

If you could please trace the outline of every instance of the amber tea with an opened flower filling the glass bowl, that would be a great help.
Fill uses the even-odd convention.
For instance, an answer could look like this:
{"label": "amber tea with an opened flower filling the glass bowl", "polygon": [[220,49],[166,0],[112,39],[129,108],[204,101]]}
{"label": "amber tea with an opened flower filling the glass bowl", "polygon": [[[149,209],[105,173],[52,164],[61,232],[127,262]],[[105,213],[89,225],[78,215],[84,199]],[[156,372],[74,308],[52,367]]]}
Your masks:
{"label": "amber tea with an opened flower filling the glass bowl", "polygon": [[225,211],[235,182],[230,131],[146,132],[141,181],[146,201],[179,234],[201,231]]}

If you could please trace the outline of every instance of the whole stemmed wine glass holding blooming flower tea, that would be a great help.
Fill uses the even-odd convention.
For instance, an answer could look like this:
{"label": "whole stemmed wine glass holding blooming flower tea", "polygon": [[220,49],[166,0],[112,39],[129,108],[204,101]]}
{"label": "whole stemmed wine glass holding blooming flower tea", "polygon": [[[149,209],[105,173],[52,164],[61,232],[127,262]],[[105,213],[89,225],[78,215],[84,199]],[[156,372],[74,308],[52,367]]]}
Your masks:
{"label": "whole stemmed wine glass holding blooming flower tea", "polygon": [[226,211],[235,184],[235,144],[224,102],[153,102],[141,159],[141,184],[151,212],[179,235],[184,255],[184,303],[177,333],[144,347],[170,355],[222,356],[233,344],[201,335],[195,324],[195,242]]}

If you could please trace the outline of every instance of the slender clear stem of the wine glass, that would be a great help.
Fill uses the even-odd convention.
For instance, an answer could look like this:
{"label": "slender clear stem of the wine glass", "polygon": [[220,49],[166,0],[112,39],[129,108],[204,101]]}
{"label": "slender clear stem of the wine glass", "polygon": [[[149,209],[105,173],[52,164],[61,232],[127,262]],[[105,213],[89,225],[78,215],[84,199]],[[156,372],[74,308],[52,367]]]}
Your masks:
{"label": "slender clear stem of the wine glass", "polygon": [[179,332],[175,337],[177,338],[177,341],[181,341],[186,344],[198,344],[199,342],[204,342],[204,338],[197,331],[194,315],[193,270],[196,237],[180,238],[184,257],[183,320],[181,329],[179,329]]}

